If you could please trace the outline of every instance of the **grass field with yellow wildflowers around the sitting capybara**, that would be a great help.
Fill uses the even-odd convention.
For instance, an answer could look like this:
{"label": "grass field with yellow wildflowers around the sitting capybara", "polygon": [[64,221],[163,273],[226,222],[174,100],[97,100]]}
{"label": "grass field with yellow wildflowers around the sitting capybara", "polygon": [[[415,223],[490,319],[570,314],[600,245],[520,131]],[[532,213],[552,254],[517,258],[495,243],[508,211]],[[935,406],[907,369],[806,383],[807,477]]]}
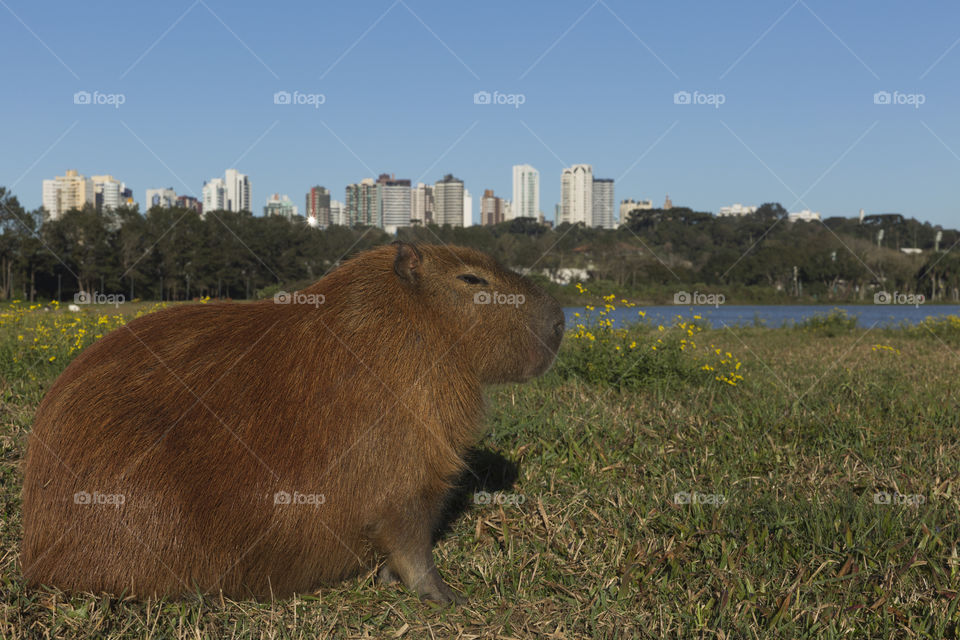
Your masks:
{"label": "grass field with yellow wildflowers around the sitting capybara", "polygon": [[477,477],[434,552],[465,605],[372,573],[264,603],[27,590],[33,411],[79,349],[147,309],[0,313],[4,638],[958,635],[956,318],[571,327],[550,373],[489,393]]}

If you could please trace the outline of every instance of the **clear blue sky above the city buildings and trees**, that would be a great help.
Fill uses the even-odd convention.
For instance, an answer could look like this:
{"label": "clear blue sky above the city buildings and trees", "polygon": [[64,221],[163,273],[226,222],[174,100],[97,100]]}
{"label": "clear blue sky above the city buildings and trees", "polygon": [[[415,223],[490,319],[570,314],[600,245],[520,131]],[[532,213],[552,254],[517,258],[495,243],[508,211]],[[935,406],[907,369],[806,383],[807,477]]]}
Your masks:
{"label": "clear blue sky above the city buildings and trees", "polygon": [[[552,218],[561,169],[589,163],[618,201],[957,227],[958,41],[955,2],[0,0],[0,184],[32,208],[42,179],[76,168],[142,201],[236,167],[259,214],[273,192],[302,206],[314,184],[343,200],[381,172],[449,172],[476,210],[530,163]],[[523,104],[474,104],[479,91]],[[722,104],[676,104],[681,91]],[[880,91],[905,104],[875,104]]]}

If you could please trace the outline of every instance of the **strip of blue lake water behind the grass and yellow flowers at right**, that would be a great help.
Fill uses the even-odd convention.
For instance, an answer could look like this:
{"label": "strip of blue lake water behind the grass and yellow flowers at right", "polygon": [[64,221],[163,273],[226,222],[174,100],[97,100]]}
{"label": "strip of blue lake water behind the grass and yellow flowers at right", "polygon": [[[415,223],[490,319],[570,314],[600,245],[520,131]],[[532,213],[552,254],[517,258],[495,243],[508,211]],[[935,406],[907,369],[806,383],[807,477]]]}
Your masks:
{"label": "strip of blue lake water behind the grass and yellow flowers at right", "polygon": [[[600,305],[597,309],[602,309]],[[785,324],[793,324],[812,317],[815,314],[827,314],[833,309],[844,309],[851,316],[857,316],[857,323],[861,327],[877,327],[896,325],[901,322],[916,324],[929,316],[960,315],[960,305],[956,304],[921,304],[919,307],[913,305],[885,305],[885,304],[864,304],[864,305],[733,305],[722,304],[715,306],[690,306],[690,305],[665,305],[665,306],[637,306],[627,309],[618,305],[616,310],[611,311],[609,317],[612,317],[618,324],[624,322],[636,322],[645,320],[653,324],[669,324],[678,315],[684,318],[691,318],[694,315],[701,316],[704,320],[710,322],[713,327],[723,326],[742,326],[752,325],[754,320],[764,323],[768,327],[780,327]],[[647,315],[641,318],[637,311],[642,310]],[[572,327],[578,322],[582,322],[586,316],[584,307],[564,307],[567,326]],[[580,313],[580,318],[574,317],[574,313]],[[597,313],[594,311],[596,318]]]}

